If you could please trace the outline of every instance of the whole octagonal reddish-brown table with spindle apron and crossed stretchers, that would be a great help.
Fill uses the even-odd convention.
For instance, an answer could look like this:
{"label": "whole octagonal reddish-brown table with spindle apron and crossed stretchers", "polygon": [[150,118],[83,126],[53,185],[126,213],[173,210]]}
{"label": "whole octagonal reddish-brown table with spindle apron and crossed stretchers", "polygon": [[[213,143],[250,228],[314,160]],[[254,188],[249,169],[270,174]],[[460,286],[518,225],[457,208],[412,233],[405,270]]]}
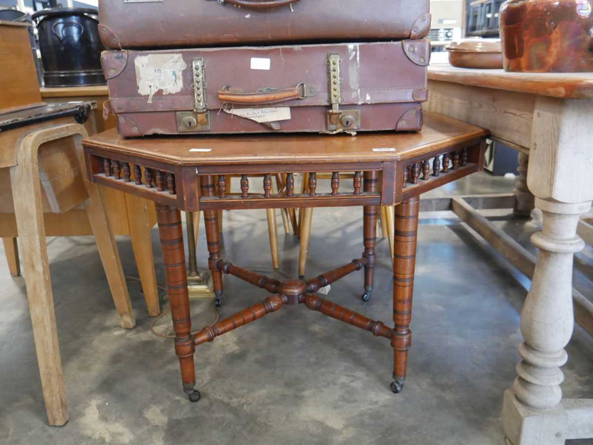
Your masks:
{"label": "whole octagonal reddish-brown table with spindle apron and crossed stretchers", "polygon": [[[248,155],[249,144],[253,144],[253,147],[257,147],[258,144],[274,145],[272,139],[266,139],[266,136],[259,136],[249,142],[245,151],[247,155],[244,155],[245,153],[238,155],[238,158],[243,156],[242,160],[225,160],[224,157],[217,159],[212,155],[202,162],[195,160],[196,158],[188,160],[187,156],[174,157],[167,152],[165,145],[176,145],[172,138],[119,141],[117,135],[106,132],[104,136],[100,134],[84,142],[89,177],[93,182],[157,202],[157,219],[176,330],[176,353],[180,361],[184,391],[190,400],[197,401],[200,398],[199,392],[194,389],[193,352],[196,345],[212,341],[216,336],[279,310],[285,304],[301,303],[308,309],[320,311],[350,325],[369,330],[374,335],[390,339],[394,349],[394,382],[391,384],[391,389],[396,393],[401,391],[406,377],[407,351],[411,344],[409,323],[412,310],[418,197],[435,187],[479,171],[483,166],[484,140],[487,131],[455,120],[443,119],[446,118],[429,117],[429,121],[435,122],[441,132],[452,126],[454,135],[443,135],[431,130],[428,126],[429,129],[426,132],[433,135],[434,140],[427,136],[427,139],[431,139],[428,143],[424,141],[417,146],[410,144],[409,147],[406,146],[405,141],[408,139],[414,141],[418,136],[394,134],[363,136],[364,138],[376,137],[377,139],[360,139],[371,141],[373,144],[381,141],[386,143],[385,141],[396,140],[396,138],[404,143],[397,145],[401,148],[388,149],[380,155],[372,152],[372,155],[359,155],[352,158],[348,158],[345,154],[333,154],[323,159],[323,156],[320,157],[314,148],[307,148],[309,151],[290,159],[279,159],[279,157],[282,158],[281,155],[267,157]],[[315,138],[328,137],[332,136],[315,136]],[[333,140],[343,143],[347,141],[344,139],[347,137],[337,136],[340,139]],[[303,136],[299,138],[299,136],[286,135],[283,138],[283,141],[294,138],[291,142],[295,144],[306,139]],[[232,139],[231,136],[228,139],[221,138],[219,142],[240,140]],[[188,141],[195,141],[197,144],[205,139],[177,139],[177,141],[183,145],[189,144]],[[138,144],[143,148],[139,148]],[[162,147],[161,152],[156,150],[158,147]],[[189,151],[181,148],[179,150],[180,152]],[[431,160],[432,162],[429,162]],[[349,187],[347,192],[340,192],[340,171],[355,172],[352,187]],[[329,193],[317,191],[316,174],[323,172],[332,173]],[[274,173],[287,175],[286,192],[271,193],[271,180]],[[295,192],[295,173],[309,173],[308,193]],[[229,174],[241,175],[240,193],[227,193],[229,187],[225,182],[225,175]],[[263,193],[249,191],[250,174],[264,175]],[[365,294],[370,296],[374,281],[378,206],[396,204],[394,328],[388,328],[382,322],[370,320],[362,314],[324,300],[314,293],[347,274],[364,269]],[[284,282],[256,274],[222,259],[216,217],[216,212],[221,209],[330,206],[364,207],[364,252],[361,258],[308,281],[289,279]],[[222,274],[237,276],[269,291],[272,296],[262,303],[192,334],[180,210],[204,212],[210,253],[209,268],[212,271],[218,301],[222,301]]]}

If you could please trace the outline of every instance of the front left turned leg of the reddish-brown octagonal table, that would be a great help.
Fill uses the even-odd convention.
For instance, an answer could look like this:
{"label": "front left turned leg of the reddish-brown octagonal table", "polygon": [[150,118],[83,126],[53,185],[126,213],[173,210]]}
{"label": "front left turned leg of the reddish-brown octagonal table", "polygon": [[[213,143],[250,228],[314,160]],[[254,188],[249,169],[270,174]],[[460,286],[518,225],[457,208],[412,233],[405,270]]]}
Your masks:
{"label": "front left turned leg of the reddish-brown octagonal table", "polygon": [[[216,217],[216,212],[214,212]],[[196,370],[193,352],[196,346],[192,335],[189,294],[187,293],[187,271],[183,249],[183,228],[181,214],[177,209],[157,204],[158,231],[161,237],[162,258],[167,276],[167,291],[171,303],[171,317],[175,329],[175,353],[181,367],[183,391],[192,402],[200,400],[196,385]]]}

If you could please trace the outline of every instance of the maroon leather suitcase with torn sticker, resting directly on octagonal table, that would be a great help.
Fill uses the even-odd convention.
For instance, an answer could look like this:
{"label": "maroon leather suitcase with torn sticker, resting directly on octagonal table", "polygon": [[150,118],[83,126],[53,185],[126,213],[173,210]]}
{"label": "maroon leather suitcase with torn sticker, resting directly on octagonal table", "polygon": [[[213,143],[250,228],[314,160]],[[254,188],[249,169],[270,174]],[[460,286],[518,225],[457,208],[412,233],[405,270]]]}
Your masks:
{"label": "maroon leather suitcase with torn sticker, resting directly on octagonal table", "polygon": [[122,136],[419,131],[428,40],[105,51]]}

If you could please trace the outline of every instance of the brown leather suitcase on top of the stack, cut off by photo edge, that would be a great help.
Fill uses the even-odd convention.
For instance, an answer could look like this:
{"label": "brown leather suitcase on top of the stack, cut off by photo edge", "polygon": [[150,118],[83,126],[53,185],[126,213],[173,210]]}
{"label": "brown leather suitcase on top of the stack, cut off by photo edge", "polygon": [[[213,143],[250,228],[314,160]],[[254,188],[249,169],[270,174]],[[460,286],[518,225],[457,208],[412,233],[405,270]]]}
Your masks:
{"label": "brown leather suitcase on top of the stack, cut off by photo edge", "polygon": [[99,0],[111,49],[421,39],[429,0]]}

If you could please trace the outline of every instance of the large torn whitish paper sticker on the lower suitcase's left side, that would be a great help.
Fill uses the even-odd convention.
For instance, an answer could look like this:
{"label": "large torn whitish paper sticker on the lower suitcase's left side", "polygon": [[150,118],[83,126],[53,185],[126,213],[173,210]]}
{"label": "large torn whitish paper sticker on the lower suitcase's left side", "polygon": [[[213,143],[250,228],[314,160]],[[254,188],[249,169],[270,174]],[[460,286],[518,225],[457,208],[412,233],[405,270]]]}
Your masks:
{"label": "large torn whitish paper sticker on the lower suitcase's left side", "polygon": [[182,73],[187,65],[181,54],[137,56],[134,64],[138,94],[148,96],[148,103],[152,103],[152,96],[158,90],[161,90],[162,94],[174,94],[183,88]]}

